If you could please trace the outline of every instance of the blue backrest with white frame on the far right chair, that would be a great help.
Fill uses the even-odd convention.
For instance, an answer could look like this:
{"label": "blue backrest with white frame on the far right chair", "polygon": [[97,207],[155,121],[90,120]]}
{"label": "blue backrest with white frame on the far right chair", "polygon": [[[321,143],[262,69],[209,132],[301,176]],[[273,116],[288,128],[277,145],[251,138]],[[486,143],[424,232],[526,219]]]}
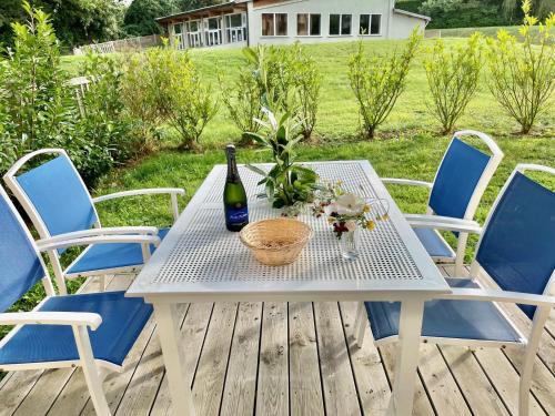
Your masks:
{"label": "blue backrest with white frame on the far right chair", "polygon": [[[463,142],[460,138],[464,135],[480,138],[492,155]],[[456,132],[435,175],[430,207],[437,215],[472,220],[502,159],[503,152],[486,134]]]}

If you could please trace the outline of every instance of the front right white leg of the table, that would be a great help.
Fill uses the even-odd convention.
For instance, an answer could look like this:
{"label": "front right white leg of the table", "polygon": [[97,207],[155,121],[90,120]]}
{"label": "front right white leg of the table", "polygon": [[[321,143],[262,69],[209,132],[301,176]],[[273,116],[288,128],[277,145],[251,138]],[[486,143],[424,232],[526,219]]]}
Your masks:
{"label": "front right white leg of the table", "polygon": [[413,409],[424,300],[401,303],[395,379],[387,415],[410,416]]}

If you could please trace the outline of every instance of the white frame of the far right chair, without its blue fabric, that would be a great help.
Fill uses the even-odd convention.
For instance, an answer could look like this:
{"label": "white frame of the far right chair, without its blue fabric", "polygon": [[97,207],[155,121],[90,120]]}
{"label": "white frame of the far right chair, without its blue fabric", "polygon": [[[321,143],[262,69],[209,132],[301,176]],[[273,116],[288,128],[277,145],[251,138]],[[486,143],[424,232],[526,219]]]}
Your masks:
{"label": "white frame of the far right chair, without its blue fabric", "polygon": [[[478,207],[480,201],[482,200],[482,195],[484,194],[484,191],[487,187],[487,184],[492,180],[492,176],[494,175],[495,171],[497,170],[497,166],[500,165],[501,161],[503,160],[503,151],[500,149],[497,143],[492,140],[487,134],[474,131],[474,130],[463,130],[455,132],[454,138],[462,139],[464,136],[476,136],[481,139],[490,149],[492,152],[492,156],[490,161],[487,162],[486,168],[484,169],[484,172],[482,172],[482,175],[480,177],[480,181],[472,194],[471,200],[468,201],[468,205],[466,206],[466,211],[464,214],[463,219],[451,219],[446,216],[438,216],[435,215],[433,210],[430,207],[430,197],[428,197],[428,206],[426,210],[425,214],[406,214],[406,219],[408,223],[414,227],[421,227],[421,229],[433,229],[434,232],[438,235],[441,240],[444,241],[445,245],[450,248],[451,251],[451,256],[448,257],[437,257],[433,256],[435,262],[438,263],[452,263],[453,258],[455,260],[455,273],[460,275],[463,271],[463,264],[464,264],[464,255],[466,251],[466,243],[468,240],[468,233],[473,232],[480,232],[480,225],[477,222],[474,221],[474,214],[476,213],[476,209]],[[450,144],[451,145],[451,144]],[[445,152],[446,153],[446,152]],[[443,163],[443,160],[445,159],[445,154],[443,155],[442,162],[440,163],[440,166]],[[412,186],[422,186],[422,187],[427,187],[428,190],[432,190],[434,186],[435,180],[437,179],[437,173],[440,169],[437,169],[434,177],[434,182],[423,182],[423,181],[414,181],[414,180],[407,180],[407,179],[395,179],[395,177],[383,177],[382,182],[385,184],[396,184],[396,185],[412,185]],[[443,236],[438,233],[438,230],[444,230],[444,231],[458,231],[458,227],[470,227],[470,231],[461,231],[458,234],[457,239],[457,246],[456,246],[456,252],[454,252],[451,246],[445,242]]]}

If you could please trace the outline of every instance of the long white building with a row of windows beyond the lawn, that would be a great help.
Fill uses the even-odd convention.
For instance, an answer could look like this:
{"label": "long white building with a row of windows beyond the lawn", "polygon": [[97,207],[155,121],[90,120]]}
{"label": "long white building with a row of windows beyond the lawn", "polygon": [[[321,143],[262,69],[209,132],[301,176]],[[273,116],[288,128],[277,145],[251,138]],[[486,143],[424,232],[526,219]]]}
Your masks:
{"label": "long white building with a row of windows beyond the lawn", "polygon": [[180,49],[403,39],[430,18],[394,0],[235,0],[157,19]]}

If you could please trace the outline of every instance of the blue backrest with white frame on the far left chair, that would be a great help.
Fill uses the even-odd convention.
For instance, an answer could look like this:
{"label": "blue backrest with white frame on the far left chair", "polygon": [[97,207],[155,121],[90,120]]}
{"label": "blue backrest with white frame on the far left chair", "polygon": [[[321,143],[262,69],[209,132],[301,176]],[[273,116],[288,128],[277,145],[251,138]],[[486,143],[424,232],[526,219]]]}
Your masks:
{"label": "blue backrest with white frame on the far left chair", "polygon": [[[17,175],[34,156],[52,153],[58,156]],[[42,239],[88,230],[98,223],[89,191],[63,150],[42,150],[28,154],[8,171],[4,180]]]}

